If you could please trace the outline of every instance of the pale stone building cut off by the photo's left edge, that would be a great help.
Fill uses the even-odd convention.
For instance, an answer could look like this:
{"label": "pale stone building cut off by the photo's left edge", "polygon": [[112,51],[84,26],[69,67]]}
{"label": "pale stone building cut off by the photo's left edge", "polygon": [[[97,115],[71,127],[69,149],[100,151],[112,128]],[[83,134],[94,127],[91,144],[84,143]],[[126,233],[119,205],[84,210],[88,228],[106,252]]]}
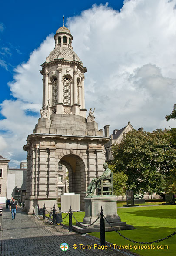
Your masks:
{"label": "pale stone building cut off by the photo's left edge", "polygon": [[6,202],[7,172],[10,160],[0,155],[0,202]]}

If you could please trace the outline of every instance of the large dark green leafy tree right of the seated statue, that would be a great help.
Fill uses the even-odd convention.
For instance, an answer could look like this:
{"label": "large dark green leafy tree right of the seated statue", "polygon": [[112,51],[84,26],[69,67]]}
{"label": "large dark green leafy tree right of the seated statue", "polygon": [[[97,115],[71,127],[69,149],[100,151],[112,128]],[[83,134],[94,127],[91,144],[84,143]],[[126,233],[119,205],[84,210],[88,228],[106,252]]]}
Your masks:
{"label": "large dark green leafy tree right of the seated statue", "polygon": [[134,130],[113,145],[114,170],[128,175],[128,189],[149,195],[165,190],[166,179],[176,166],[176,147],[171,138],[167,129],[152,133]]}

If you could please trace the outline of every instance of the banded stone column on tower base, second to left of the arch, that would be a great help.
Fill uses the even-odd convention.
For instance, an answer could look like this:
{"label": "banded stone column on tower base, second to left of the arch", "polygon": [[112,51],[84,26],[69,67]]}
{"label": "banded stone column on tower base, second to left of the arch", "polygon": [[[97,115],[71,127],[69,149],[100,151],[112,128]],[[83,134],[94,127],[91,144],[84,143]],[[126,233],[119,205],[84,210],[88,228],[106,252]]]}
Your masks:
{"label": "banded stone column on tower base, second to left of the arch", "polygon": [[46,179],[47,179],[47,162],[46,162],[46,148],[39,148],[39,188],[38,198],[46,198]]}

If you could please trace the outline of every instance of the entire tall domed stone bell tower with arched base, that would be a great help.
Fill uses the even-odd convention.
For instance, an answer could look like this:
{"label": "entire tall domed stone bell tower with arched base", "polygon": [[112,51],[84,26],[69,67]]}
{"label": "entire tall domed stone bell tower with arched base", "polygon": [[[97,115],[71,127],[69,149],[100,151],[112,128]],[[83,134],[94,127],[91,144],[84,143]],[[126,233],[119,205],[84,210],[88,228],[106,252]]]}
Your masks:
{"label": "entire tall domed stone bell tower with arched base", "polygon": [[63,24],[54,35],[55,48],[41,65],[43,107],[41,118],[28,135],[27,188],[28,213],[39,204],[53,207],[58,198],[58,168],[66,166],[69,192],[80,194],[84,209],[84,191],[93,177],[103,172],[104,144],[109,138],[98,129],[93,112],[86,118],[82,61],[73,51],[73,36]]}

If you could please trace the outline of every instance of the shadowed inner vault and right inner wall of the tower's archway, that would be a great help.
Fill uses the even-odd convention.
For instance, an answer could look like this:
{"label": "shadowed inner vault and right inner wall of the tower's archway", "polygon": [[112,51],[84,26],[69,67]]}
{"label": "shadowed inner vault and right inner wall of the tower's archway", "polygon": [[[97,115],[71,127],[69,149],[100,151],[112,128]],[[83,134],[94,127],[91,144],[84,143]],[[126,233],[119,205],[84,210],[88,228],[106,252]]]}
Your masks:
{"label": "shadowed inner vault and right inner wall of the tower's archway", "polygon": [[70,153],[64,154],[58,162],[68,169],[69,192],[80,194],[80,209],[84,209],[85,194],[83,192],[86,191],[86,172],[83,159]]}

